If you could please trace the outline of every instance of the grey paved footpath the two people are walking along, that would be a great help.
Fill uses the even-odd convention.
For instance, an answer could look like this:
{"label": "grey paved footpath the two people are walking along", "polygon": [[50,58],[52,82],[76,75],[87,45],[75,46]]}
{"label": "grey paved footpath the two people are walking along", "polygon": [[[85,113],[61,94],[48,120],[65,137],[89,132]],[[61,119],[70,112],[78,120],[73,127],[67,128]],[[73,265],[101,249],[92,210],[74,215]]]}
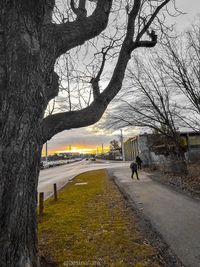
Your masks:
{"label": "grey paved footpath the two people are walking along", "polygon": [[152,181],[132,180],[129,168],[110,170],[137,207],[187,267],[200,267],[200,201]]}

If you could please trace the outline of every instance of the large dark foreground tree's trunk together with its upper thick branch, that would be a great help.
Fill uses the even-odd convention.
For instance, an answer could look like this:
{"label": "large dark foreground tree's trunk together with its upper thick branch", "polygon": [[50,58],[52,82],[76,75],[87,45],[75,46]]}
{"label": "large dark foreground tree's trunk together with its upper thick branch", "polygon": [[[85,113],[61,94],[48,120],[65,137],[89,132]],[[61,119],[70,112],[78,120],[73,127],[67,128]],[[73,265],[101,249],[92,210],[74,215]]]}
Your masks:
{"label": "large dark foreground tree's trunk together with its upper thick branch", "polygon": [[53,0],[0,3],[1,267],[39,266],[36,210],[42,122],[49,100],[59,89],[54,72],[59,47],[55,29],[56,34],[57,28],[66,31],[60,41],[66,51],[77,45],[71,26],[86,27],[88,36],[83,31],[78,42],[92,38],[107,25],[112,1],[103,2],[106,9],[99,2],[100,11],[92,17],[65,25],[51,24]]}

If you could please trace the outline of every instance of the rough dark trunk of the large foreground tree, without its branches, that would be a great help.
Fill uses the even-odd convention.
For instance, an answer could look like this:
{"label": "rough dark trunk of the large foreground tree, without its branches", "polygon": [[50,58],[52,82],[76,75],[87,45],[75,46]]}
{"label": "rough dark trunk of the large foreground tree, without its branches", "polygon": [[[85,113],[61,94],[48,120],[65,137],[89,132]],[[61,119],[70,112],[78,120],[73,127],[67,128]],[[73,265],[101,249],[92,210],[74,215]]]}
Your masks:
{"label": "rough dark trunk of the large foreground tree, without its branches", "polygon": [[11,8],[6,1],[0,21],[1,267],[39,266],[36,208],[45,82],[34,5],[29,13],[31,1],[19,2]]}

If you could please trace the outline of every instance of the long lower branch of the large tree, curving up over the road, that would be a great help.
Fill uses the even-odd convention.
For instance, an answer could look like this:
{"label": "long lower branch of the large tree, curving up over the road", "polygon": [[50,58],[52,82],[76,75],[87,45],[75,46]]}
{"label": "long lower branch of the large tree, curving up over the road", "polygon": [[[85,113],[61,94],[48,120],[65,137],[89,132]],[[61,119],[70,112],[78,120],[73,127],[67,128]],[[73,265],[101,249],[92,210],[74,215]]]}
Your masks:
{"label": "long lower branch of the large tree, curving up over the road", "polygon": [[[100,1],[98,1],[98,3],[99,2]],[[133,37],[135,34],[135,20],[139,14],[140,7],[141,0],[135,0],[133,8],[129,13],[126,37],[108,86],[101,94],[96,96],[95,100],[85,109],[54,114],[45,118],[43,123],[44,142],[63,130],[88,126],[101,118],[108,104],[120,91],[128,61],[131,58],[131,52],[138,47],[137,44],[133,42]],[[152,42],[152,46],[156,44],[155,40],[151,40],[150,42]]]}

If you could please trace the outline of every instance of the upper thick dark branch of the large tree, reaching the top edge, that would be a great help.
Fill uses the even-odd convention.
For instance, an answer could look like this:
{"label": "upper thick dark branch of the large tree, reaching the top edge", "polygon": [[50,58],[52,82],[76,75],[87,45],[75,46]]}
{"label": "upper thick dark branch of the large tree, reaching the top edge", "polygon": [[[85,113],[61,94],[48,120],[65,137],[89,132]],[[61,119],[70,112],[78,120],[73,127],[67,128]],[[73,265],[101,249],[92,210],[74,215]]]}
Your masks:
{"label": "upper thick dark branch of the large tree, reaching the top edge", "polygon": [[89,17],[82,16],[73,22],[52,24],[50,32],[57,45],[56,57],[99,35],[107,26],[111,6],[112,0],[101,0]]}

